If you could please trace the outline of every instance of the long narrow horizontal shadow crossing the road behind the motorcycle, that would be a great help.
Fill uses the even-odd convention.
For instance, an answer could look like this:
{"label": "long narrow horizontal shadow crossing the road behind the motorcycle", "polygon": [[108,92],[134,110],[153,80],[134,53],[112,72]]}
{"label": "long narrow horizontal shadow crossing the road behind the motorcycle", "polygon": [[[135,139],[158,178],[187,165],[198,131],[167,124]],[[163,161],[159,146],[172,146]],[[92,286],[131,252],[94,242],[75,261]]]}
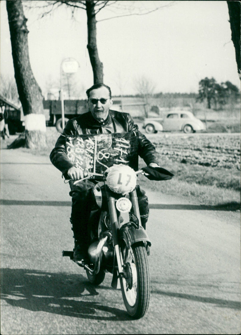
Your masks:
{"label": "long narrow horizontal shadow crossing the road behind the motorcycle", "polygon": [[[1,199],[1,205],[26,205],[26,206],[71,206],[71,201],[46,201],[46,200],[8,200]],[[240,211],[240,203],[229,202],[216,206],[186,205],[186,204],[149,204],[150,209],[175,209],[175,210],[216,210]]]}

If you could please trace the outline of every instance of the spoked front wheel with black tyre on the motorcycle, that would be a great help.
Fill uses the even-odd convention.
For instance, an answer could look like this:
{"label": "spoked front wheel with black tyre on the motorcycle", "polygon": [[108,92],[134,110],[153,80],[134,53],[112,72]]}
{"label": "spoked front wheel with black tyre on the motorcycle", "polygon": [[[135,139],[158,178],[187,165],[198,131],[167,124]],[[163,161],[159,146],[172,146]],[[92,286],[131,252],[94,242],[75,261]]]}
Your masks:
{"label": "spoked front wheel with black tyre on the motorcycle", "polygon": [[146,249],[140,244],[120,248],[124,277],[120,278],[126,310],[135,319],[143,317],[149,305],[150,275]]}

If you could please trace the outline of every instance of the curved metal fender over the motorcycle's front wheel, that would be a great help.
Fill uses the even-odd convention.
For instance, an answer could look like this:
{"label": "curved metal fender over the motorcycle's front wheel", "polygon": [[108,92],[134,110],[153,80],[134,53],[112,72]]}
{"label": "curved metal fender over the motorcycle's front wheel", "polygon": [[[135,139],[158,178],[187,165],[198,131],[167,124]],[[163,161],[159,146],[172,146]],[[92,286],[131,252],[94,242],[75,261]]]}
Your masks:
{"label": "curved metal fender over the motorcycle's front wheel", "polygon": [[149,237],[142,226],[136,228],[136,226],[132,223],[123,224],[119,230],[119,237],[121,240],[124,240],[127,247],[132,246],[137,242],[147,242],[148,246],[151,246],[151,242]]}

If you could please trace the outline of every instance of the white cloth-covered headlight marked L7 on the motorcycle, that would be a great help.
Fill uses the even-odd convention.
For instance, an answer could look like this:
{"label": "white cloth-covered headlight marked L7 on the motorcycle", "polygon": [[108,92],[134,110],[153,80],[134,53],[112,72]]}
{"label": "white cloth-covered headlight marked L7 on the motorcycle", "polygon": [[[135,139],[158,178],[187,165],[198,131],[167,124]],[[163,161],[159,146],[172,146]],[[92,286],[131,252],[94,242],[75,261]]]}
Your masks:
{"label": "white cloth-covered headlight marked L7 on the motorcycle", "polygon": [[126,195],[136,187],[136,173],[128,165],[115,165],[106,170],[106,184],[115,193]]}

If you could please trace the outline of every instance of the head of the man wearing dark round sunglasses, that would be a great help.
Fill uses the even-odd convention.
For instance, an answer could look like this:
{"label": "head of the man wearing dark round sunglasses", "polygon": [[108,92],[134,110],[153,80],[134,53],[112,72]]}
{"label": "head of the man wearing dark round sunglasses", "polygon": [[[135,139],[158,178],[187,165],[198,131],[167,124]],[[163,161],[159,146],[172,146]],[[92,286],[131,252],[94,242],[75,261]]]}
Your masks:
{"label": "head of the man wearing dark round sunglasses", "polygon": [[103,86],[90,91],[89,111],[97,121],[102,122],[107,118],[112,103],[113,100],[110,99],[108,88]]}

